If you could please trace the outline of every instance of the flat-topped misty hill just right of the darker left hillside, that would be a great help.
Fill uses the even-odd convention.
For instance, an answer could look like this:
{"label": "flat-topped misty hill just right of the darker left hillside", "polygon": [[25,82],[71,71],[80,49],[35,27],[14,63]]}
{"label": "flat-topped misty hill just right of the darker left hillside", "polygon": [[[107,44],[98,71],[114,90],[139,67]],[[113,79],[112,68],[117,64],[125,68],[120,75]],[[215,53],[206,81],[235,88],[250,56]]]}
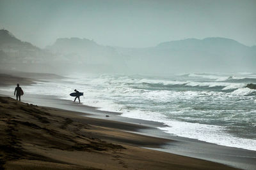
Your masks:
{"label": "flat-topped misty hill just right of the darker left hillside", "polygon": [[98,45],[89,39],[59,38],[46,47],[49,52],[61,55],[61,60],[69,60],[77,66],[85,66],[88,71],[120,72],[127,69],[122,55],[111,46]]}

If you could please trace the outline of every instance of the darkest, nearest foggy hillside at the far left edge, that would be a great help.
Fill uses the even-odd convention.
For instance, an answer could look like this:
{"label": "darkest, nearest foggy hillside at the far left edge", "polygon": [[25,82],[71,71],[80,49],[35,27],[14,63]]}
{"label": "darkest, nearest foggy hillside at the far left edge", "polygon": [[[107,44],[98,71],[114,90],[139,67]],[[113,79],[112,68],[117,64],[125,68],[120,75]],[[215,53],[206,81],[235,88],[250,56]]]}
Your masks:
{"label": "darkest, nearest foggy hillside at the far left edge", "polygon": [[51,53],[20,41],[7,30],[0,30],[1,69],[42,72],[50,67]]}

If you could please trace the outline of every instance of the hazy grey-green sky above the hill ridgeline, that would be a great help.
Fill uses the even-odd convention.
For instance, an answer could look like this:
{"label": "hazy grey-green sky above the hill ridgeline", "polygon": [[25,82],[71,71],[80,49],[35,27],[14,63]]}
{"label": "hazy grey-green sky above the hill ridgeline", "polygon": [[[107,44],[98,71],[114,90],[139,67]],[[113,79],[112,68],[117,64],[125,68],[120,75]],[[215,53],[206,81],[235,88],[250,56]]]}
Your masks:
{"label": "hazy grey-green sky above the hill ridgeline", "polygon": [[56,38],[146,47],[185,38],[224,37],[256,45],[256,0],[0,0],[0,29],[45,47]]}

